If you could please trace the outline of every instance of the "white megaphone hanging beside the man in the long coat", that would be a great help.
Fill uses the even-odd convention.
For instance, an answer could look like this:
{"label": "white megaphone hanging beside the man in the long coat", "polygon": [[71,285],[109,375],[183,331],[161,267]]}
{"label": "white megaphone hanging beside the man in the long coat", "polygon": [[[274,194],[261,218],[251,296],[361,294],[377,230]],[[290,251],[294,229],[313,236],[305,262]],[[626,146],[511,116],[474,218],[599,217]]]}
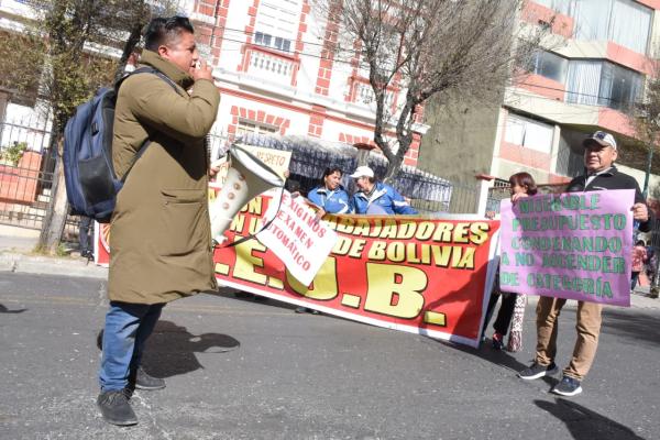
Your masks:
{"label": "white megaphone hanging beside the man in the long coat", "polygon": [[229,148],[230,167],[227,180],[209,207],[211,238],[222,243],[234,216],[254,197],[282,188],[284,179],[258,157],[240,144]]}

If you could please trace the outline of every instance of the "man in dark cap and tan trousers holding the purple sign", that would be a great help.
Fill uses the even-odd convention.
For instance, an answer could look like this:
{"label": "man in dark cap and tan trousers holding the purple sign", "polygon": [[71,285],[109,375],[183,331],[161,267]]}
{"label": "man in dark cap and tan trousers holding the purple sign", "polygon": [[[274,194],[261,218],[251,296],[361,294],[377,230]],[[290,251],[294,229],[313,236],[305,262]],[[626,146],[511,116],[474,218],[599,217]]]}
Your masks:
{"label": "man in dark cap and tan trousers holding the purple sign", "polygon": [[[630,210],[632,219],[639,222],[639,230],[648,232],[651,229],[652,216],[639,190],[637,180],[631,176],[619,173],[614,161],[618,152],[614,136],[604,131],[597,131],[585,139],[584,166],[586,173],[569,183],[568,193],[585,193],[608,189],[635,189],[635,202]],[[534,363],[518,373],[526,381],[543,377],[557,372],[554,356],[557,354],[558,318],[566,302],[563,298],[550,296],[539,297],[537,306],[537,349]],[[578,301],[578,340],[569,366],[563,370],[563,377],[551,392],[561,396],[574,396],[582,393],[582,381],[588,373],[598,345],[601,332],[601,311],[598,302]]]}

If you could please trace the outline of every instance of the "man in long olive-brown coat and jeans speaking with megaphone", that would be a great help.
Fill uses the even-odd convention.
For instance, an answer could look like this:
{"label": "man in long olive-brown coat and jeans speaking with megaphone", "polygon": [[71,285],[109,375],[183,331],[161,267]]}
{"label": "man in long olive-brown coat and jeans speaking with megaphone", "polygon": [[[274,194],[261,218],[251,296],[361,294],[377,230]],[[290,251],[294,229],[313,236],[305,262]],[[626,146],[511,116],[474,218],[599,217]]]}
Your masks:
{"label": "man in long olive-brown coat and jeans speaking with megaphone", "polygon": [[131,173],[110,223],[110,307],[97,406],[106,421],[119,426],[138,424],[129,402],[133,388],[165,387],[141,365],[163,307],[217,288],[205,136],[220,95],[211,67],[199,61],[194,33],[184,16],[152,20],[140,62],[158,75],[132,75],[117,98],[112,163],[120,178]]}

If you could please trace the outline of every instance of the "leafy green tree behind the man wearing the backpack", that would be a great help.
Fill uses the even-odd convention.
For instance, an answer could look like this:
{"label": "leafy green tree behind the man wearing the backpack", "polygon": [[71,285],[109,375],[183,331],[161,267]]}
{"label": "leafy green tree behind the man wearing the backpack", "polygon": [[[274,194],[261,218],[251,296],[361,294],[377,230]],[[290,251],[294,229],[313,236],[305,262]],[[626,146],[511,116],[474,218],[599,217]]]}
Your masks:
{"label": "leafy green tree behind the man wearing the backpack", "polygon": [[[44,218],[38,245],[55,254],[67,216],[64,169],[61,161],[66,121],[76,107],[103,85],[121,75],[140,42],[142,28],[156,13],[172,13],[170,1],[145,0],[42,0],[33,2],[34,16],[26,21],[15,47],[28,55],[29,70],[16,66],[14,88],[38,90],[53,114],[50,154],[56,155],[52,201]],[[28,48],[28,51],[26,51]],[[117,53],[122,55],[118,59]],[[22,80],[21,74],[30,77]],[[37,74],[38,73],[38,74]],[[37,80],[36,80],[37,78]],[[38,84],[35,87],[35,80]]]}

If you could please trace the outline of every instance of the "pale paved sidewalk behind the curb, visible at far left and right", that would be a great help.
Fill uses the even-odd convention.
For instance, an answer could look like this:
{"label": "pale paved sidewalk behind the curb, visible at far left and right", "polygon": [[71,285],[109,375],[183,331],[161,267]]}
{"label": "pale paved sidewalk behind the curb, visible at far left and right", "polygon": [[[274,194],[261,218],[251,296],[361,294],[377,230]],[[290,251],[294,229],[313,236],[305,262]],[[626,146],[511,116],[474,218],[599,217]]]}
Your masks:
{"label": "pale paved sidewalk behind the curb, visible at far left and right", "polygon": [[[0,226],[0,272],[108,277],[107,267],[97,266],[94,262],[79,257],[77,252],[62,257],[35,254],[37,242],[38,231]],[[649,286],[637,286],[635,294],[630,296],[630,307],[660,309],[660,299],[649,298]]]}

